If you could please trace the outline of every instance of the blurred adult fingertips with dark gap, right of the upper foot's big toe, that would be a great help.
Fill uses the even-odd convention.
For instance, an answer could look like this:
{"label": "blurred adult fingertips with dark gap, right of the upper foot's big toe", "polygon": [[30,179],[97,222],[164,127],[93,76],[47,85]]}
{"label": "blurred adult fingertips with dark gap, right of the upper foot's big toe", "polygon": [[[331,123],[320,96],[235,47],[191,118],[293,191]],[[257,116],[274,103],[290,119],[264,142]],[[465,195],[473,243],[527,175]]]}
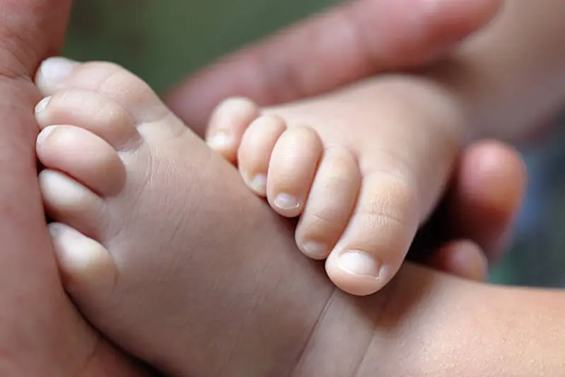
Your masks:
{"label": "blurred adult fingertips with dark gap, right of the upper foot's big toe", "polygon": [[525,165],[511,146],[478,141],[463,151],[443,203],[414,243],[412,257],[483,280],[498,259],[523,199]]}

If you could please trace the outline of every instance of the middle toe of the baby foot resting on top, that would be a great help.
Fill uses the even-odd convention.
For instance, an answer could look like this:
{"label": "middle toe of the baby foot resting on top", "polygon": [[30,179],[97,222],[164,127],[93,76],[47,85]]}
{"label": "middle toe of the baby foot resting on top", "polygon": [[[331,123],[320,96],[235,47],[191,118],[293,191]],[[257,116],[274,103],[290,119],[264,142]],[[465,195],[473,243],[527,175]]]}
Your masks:
{"label": "middle toe of the baby foot resting on top", "polygon": [[276,212],[302,213],[322,152],[322,141],[310,127],[289,128],[279,137],[267,173],[267,199]]}

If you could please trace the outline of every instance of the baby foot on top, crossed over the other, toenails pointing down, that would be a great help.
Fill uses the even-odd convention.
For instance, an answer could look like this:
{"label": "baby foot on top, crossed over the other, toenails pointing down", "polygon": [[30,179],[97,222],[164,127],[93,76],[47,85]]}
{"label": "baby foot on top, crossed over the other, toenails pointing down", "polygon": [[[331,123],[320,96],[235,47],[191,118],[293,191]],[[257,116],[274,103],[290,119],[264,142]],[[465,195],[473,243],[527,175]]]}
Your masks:
{"label": "baby foot on top, crossed over the other, toenails pointing down", "polygon": [[339,288],[372,294],[400,268],[448,180],[458,107],[424,80],[387,77],[260,110],[226,100],[207,142],[282,216]]}

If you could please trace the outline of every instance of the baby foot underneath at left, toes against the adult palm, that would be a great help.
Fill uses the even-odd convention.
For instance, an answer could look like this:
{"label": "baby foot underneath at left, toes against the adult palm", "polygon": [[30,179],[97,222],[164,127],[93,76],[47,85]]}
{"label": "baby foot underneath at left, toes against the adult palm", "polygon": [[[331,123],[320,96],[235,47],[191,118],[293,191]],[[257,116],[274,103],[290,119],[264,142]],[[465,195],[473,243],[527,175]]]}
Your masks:
{"label": "baby foot underneath at left, toes against the adult palm", "polygon": [[246,216],[262,201],[133,74],[55,58],[36,81],[40,187],[84,315],[170,375],[290,375],[332,289],[277,253],[287,229]]}

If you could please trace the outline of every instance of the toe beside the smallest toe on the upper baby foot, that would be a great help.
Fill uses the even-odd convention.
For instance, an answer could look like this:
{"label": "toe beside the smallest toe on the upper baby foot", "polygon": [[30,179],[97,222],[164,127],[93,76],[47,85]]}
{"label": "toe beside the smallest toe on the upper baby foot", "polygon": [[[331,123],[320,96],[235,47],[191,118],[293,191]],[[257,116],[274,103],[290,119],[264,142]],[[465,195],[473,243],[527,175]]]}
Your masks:
{"label": "toe beside the smallest toe on the upper baby foot", "polygon": [[238,150],[238,168],[250,189],[260,196],[267,195],[267,172],[271,154],[286,124],[280,117],[258,117],[245,130]]}

